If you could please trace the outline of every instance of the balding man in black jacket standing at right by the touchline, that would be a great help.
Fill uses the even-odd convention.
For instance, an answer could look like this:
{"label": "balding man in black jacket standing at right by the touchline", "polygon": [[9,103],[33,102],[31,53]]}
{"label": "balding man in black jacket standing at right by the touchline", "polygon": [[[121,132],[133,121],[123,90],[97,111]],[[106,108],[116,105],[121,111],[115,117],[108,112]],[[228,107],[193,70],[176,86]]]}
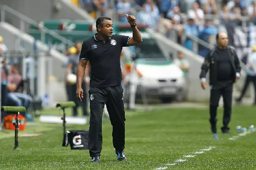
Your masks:
{"label": "balding man in black jacket standing at right by the touchline", "polygon": [[240,62],[233,47],[228,46],[228,35],[219,33],[216,36],[217,47],[210,51],[201,67],[200,79],[203,89],[206,88],[206,73],[210,70],[210,123],[211,130],[217,133],[217,107],[220,95],[224,102],[222,133],[229,133],[228,124],[231,118],[233,84],[240,77]]}

